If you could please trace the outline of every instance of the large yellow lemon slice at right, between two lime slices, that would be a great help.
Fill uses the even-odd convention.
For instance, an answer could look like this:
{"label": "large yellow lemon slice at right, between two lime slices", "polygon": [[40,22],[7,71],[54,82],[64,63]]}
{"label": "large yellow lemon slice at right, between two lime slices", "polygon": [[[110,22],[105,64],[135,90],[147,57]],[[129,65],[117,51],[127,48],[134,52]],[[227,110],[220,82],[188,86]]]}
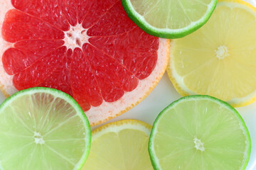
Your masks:
{"label": "large yellow lemon slice at right, between two lime slices", "polygon": [[208,23],[171,42],[168,73],[183,96],[207,94],[239,107],[256,96],[256,9],[220,0]]}

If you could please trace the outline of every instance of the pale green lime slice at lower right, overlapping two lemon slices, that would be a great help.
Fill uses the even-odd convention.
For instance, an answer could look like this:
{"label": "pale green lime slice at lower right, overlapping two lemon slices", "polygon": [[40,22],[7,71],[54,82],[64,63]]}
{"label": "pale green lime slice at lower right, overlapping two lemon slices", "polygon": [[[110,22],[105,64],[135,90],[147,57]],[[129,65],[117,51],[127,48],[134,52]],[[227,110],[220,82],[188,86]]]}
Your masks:
{"label": "pale green lime slice at lower right, overlapping two lemon slices", "polygon": [[245,169],[250,149],[238,111],[210,96],[171,103],[156,118],[149,140],[155,169]]}

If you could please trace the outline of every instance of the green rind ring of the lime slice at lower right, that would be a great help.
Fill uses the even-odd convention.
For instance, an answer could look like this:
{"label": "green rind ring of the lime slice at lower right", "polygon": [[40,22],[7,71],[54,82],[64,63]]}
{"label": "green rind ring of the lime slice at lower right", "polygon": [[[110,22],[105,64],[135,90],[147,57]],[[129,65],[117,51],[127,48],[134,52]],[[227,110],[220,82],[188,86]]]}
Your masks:
{"label": "green rind ring of the lime slice at lower right", "polygon": [[246,168],[246,166],[250,160],[251,138],[250,138],[249,130],[247,129],[247,126],[245,125],[245,121],[242,119],[242,116],[240,115],[240,113],[238,113],[238,111],[236,111],[235,108],[230,106],[230,104],[226,103],[225,101],[221,101],[218,98],[215,98],[212,96],[207,96],[207,95],[193,95],[193,96],[185,96],[185,97],[178,99],[177,101],[174,101],[169,106],[164,108],[164,110],[161,111],[161,113],[159,113],[156,120],[154,121],[153,128],[151,130],[151,134],[149,137],[149,156],[151,159],[152,166],[154,167],[155,170],[161,170],[161,166],[159,165],[159,160],[155,157],[156,153],[154,152],[154,142],[153,142],[154,135],[156,134],[156,128],[158,126],[157,124],[159,123],[161,116],[164,115],[164,113],[166,113],[166,111],[169,111],[171,108],[173,108],[176,104],[178,104],[184,100],[188,100],[188,99],[198,100],[201,98],[208,99],[209,101],[215,101],[216,103],[219,103],[221,106],[224,106],[225,108],[228,108],[228,110],[232,111],[234,113],[234,115],[238,118],[241,130],[243,130],[243,133],[244,133],[245,137],[247,138],[247,142],[248,142],[248,143],[246,143],[247,148],[245,150],[247,152],[245,153],[246,157],[244,158],[244,164],[242,164],[240,169],[244,170]]}

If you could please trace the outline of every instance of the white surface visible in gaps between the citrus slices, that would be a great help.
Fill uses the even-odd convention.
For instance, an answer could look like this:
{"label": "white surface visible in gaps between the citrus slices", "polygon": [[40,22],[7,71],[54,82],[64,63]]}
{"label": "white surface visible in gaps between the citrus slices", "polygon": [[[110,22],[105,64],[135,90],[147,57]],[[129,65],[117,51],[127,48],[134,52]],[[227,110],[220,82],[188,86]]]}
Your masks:
{"label": "white surface visible in gaps between the citrus slices", "polygon": [[[256,6],[256,0],[245,1],[248,1]],[[181,95],[178,94],[178,92],[174,89],[174,86],[171,84],[167,74],[164,74],[164,77],[161,79],[154,91],[152,91],[144,101],[139,103],[138,106],[135,106],[127,113],[124,113],[123,115],[120,115],[109,122],[122,119],[137,119],[152,125],[156,116],[164,108],[166,108],[166,106],[173,101],[176,101],[178,98],[181,98]],[[4,101],[4,96],[0,92],[0,103],[2,101]],[[256,103],[252,103],[251,105],[242,108],[237,108],[237,110],[242,115],[242,118],[244,118],[252,138],[252,152],[250,162],[246,170],[256,170],[256,145],[254,145],[256,144]]]}

